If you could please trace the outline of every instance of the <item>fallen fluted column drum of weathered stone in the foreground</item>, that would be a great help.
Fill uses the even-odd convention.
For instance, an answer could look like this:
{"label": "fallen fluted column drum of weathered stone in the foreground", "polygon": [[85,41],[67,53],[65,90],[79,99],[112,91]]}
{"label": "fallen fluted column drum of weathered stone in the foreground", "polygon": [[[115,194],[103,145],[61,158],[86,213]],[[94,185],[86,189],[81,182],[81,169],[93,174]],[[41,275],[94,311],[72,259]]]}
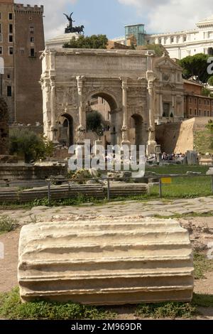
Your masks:
{"label": "fallen fluted column drum of weathered stone in the foreground", "polygon": [[23,301],[191,301],[193,271],[188,232],[175,220],[45,222],[21,230]]}

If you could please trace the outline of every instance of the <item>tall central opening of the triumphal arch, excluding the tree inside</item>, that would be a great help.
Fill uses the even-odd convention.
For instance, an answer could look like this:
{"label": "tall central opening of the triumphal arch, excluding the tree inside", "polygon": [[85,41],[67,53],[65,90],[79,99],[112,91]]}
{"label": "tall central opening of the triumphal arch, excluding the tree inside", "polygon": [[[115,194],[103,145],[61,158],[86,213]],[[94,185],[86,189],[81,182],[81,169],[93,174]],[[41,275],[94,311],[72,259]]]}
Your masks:
{"label": "tall central opening of the triumphal arch, excluding the tree inside", "polygon": [[108,92],[92,92],[87,97],[87,112],[97,111],[104,121],[104,145],[119,143],[122,113],[119,112],[116,97]]}

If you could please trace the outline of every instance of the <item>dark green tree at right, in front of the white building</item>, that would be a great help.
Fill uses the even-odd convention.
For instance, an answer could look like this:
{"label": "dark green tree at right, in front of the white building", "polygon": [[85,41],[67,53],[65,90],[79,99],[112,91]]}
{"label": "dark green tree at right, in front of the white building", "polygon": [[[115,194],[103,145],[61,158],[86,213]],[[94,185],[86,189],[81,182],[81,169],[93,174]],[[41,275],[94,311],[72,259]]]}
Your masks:
{"label": "dark green tree at right, in front of the white building", "polygon": [[207,83],[210,75],[207,72],[209,55],[197,53],[197,55],[188,55],[182,60],[178,60],[179,65],[183,68],[183,77],[185,79],[193,78],[203,83]]}

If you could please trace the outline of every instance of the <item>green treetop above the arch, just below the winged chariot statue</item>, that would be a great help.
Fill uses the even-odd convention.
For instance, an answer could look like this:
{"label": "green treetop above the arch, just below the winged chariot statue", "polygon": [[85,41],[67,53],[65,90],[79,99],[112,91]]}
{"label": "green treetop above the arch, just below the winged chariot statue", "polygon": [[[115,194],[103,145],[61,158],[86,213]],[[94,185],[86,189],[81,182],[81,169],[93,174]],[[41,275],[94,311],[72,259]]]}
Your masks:
{"label": "green treetop above the arch, just below the winged chariot statue", "polygon": [[106,49],[108,38],[106,35],[80,36],[64,44],[64,48]]}

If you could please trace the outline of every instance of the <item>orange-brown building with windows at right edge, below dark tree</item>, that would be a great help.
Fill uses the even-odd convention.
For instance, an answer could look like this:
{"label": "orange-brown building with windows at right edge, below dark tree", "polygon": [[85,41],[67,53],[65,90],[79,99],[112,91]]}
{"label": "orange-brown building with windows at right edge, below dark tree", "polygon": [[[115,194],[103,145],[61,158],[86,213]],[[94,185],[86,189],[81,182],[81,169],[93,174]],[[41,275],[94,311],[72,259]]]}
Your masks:
{"label": "orange-brown building with windows at right edge, below dark tree", "polygon": [[213,117],[213,98],[202,95],[203,87],[197,82],[184,80],[185,118]]}

